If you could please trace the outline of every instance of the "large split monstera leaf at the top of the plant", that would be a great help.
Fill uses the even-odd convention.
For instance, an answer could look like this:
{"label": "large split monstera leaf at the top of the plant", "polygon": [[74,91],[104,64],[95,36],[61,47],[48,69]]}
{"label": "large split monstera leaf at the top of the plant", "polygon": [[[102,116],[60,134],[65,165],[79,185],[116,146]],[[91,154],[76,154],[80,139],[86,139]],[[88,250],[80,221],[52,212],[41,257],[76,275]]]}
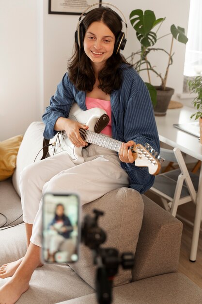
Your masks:
{"label": "large split monstera leaf at the top of the plant", "polygon": [[155,22],[155,13],[150,10],[146,10],[144,13],[142,10],[134,10],[130,13],[130,22],[136,32],[146,35],[148,34]]}

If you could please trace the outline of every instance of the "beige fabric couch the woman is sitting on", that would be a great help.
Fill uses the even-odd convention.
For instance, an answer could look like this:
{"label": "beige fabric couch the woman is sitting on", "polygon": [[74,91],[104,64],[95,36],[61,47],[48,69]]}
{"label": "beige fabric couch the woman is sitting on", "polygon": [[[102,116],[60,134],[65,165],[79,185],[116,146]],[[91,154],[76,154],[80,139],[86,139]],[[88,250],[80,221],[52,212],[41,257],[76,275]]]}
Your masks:
{"label": "beige fabric couch the woman is sitting on", "polygon": [[[13,176],[0,182],[0,213],[8,219],[7,226],[0,229],[0,265],[20,258],[26,252],[19,176],[42,148],[43,130],[42,122],[31,123],[20,145]],[[40,161],[41,156],[42,151],[36,161]],[[92,213],[93,208],[105,212],[99,222],[108,236],[103,246],[135,254],[132,270],[119,268],[112,288],[112,303],[202,303],[202,289],[177,271],[183,228],[179,220],[130,188],[111,191],[84,205],[83,216]],[[4,222],[5,218],[0,215],[0,226]],[[45,264],[37,268],[31,277],[30,288],[16,303],[96,304],[96,266],[90,249],[83,244],[80,247],[78,263]],[[7,280],[9,278],[0,279],[0,286]]]}

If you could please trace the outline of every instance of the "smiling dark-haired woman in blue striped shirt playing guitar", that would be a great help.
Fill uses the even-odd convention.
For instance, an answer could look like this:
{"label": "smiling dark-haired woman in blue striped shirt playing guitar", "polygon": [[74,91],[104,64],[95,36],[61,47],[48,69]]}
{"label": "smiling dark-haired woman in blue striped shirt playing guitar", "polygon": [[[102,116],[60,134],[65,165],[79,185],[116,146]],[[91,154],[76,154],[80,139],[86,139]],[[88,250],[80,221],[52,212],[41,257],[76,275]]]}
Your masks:
{"label": "smiling dark-haired woman in blue striped shirt playing guitar", "polygon": [[79,135],[79,128],[88,129],[88,126],[68,118],[71,105],[76,101],[82,110],[91,107],[106,110],[110,121],[103,133],[124,143],[118,155],[92,144],[82,149],[85,161],[80,165],[75,165],[63,152],[23,170],[20,188],[28,249],[24,258],[0,269],[0,277],[12,276],[0,288],[1,303],[15,303],[29,288],[35,268],[42,265],[43,193],[76,191],[81,204],[85,204],[122,186],[130,186],[143,193],[154,182],[147,168],[135,166],[132,152],[128,149],[136,142],[149,143],[159,151],[159,139],[145,84],[119,51],[114,51],[122,20],[113,10],[100,7],[88,12],[80,27],[83,38],[79,46],[76,43],[68,73],[43,115],[46,124],[44,137],[52,138],[57,131],[65,130],[76,147],[87,145]]}

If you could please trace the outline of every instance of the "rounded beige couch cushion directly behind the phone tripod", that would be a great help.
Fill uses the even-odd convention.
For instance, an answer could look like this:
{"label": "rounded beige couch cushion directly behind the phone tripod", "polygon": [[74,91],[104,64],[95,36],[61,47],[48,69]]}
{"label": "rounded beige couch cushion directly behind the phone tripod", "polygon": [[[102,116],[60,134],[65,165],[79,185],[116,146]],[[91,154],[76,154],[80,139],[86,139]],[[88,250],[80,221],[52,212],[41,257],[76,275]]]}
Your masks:
{"label": "rounded beige couch cushion directly behind the phone tripod", "polygon": [[[82,206],[82,214],[91,214],[93,209],[104,211],[99,226],[106,231],[107,241],[101,247],[114,247],[119,253],[135,253],[143,217],[143,201],[134,189],[122,187],[105,194],[100,199]],[[92,251],[80,245],[79,261],[70,266],[90,286],[95,287],[95,270]],[[114,285],[131,280],[131,270],[119,268]]]}

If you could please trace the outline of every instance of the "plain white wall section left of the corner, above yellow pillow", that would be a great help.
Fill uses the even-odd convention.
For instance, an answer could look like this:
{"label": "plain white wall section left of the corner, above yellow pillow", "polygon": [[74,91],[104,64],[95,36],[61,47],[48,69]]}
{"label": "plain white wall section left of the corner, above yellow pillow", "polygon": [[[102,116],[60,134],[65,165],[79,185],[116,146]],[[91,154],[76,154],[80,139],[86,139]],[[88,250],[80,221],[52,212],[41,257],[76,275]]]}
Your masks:
{"label": "plain white wall section left of the corner, above yellow pillow", "polygon": [[0,140],[23,133],[35,104],[36,3],[0,0]]}

